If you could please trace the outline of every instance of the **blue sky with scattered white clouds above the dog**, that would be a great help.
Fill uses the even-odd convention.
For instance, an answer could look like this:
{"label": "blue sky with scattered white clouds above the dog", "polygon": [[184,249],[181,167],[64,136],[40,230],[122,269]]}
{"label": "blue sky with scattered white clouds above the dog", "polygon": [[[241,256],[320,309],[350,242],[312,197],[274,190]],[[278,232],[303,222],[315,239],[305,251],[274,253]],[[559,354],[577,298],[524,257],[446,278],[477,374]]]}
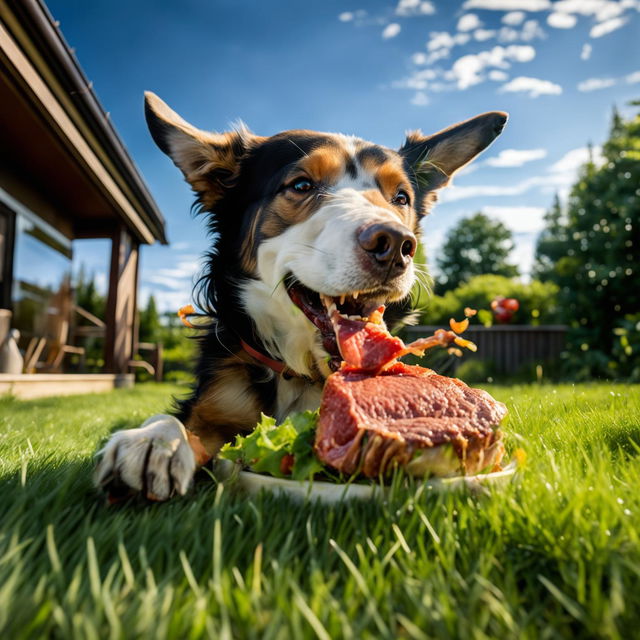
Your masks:
{"label": "blue sky with scattered white clouds above the dog", "polygon": [[[424,223],[432,263],[447,229],[484,211],[515,234],[526,274],[542,215],[566,194],[613,105],[640,97],[640,0],[49,0],[67,42],[162,210],[169,247],[144,247],[142,299],[189,301],[202,220],[144,123],[150,89],[185,119],[258,134],[310,128],[398,147],[482,111],[511,114],[496,143]],[[105,242],[76,243],[101,282]]]}

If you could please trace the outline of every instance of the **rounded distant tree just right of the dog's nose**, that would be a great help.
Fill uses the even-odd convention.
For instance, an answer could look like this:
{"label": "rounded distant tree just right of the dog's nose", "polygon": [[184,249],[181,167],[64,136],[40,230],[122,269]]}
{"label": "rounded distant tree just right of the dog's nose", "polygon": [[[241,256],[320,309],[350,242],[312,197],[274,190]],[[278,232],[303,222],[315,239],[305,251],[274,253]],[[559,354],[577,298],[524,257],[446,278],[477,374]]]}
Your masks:
{"label": "rounded distant tree just right of the dog's nose", "polygon": [[437,259],[440,277],[436,291],[456,289],[474,276],[493,274],[512,278],[518,268],[507,262],[513,249],[511,231],[482,213],[458,222],[448,233]]}

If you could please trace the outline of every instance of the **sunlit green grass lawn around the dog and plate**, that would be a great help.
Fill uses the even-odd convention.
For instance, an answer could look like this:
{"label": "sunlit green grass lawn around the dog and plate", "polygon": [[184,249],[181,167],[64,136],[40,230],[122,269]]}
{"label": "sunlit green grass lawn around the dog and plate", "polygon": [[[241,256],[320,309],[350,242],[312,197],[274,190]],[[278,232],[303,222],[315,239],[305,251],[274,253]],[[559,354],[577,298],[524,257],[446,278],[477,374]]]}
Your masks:
{"label": "sunlit green grass lawn around the dog and plate", "polygon": [[637,637],[638,386],[492,388],[528,458],[490,495],[107,507],[93,452],[175,390],[0,399],[0,637]]}

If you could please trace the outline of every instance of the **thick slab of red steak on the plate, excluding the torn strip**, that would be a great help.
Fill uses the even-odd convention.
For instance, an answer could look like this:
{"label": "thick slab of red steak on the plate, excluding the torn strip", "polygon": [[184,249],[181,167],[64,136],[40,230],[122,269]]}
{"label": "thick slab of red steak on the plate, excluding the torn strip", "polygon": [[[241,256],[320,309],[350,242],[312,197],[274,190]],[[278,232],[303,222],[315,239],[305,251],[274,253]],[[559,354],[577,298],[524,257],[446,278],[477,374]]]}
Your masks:
{"label": "thick slab of red steak on the plate, excluding the torn strip", "polygon": [[473,473],[502,457],[495,428],[506,413],[487,392],[423,367],[398,362],[378,375],[343,367],[326,382],[315,451],[345,474],[375,477],[450,443],[459,471]]}

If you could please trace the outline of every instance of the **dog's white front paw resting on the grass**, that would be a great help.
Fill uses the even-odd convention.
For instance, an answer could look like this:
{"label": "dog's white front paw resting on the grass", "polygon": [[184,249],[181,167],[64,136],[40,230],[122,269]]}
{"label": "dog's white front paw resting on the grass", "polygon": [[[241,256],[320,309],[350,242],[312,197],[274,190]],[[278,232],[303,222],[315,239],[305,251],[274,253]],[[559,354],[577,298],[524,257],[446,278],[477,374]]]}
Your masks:
{"label": "dog's white front paw resting on the grass", "polygon": [[98,455],[95,481],[113,501],[132,493],[149,500],[167,500],[176,491],[184,495],[196,470],[186,429],[168,415],[117,431]]}

